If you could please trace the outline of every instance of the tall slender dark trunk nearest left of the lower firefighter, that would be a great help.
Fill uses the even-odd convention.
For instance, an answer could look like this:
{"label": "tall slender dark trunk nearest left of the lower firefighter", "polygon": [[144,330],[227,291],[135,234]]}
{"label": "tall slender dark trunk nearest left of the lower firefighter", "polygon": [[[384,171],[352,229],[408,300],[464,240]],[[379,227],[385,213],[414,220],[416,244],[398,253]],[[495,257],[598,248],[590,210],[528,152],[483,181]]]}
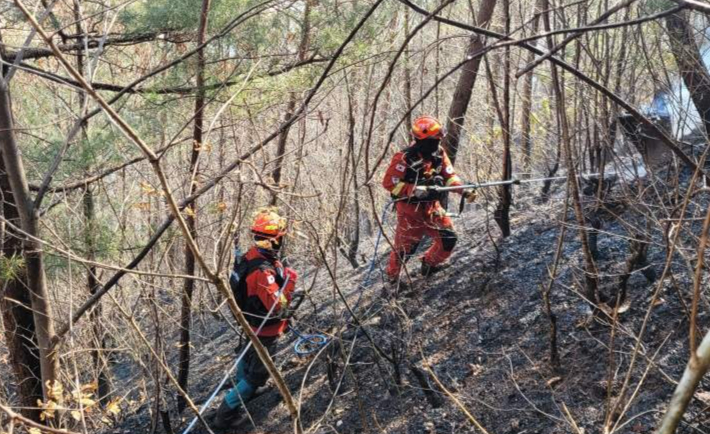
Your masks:
{"label": "tall slender dark trunk nearest left of the lower firefighter", "polygon": [[[205,33],[207,32],[207,17],[210,11],[211,0],[202,0],[202,9],[200,13],[200,26],[197,30],[197,45],[200,46],[205,42]],[[202,150],[202,128],[205,112],[205,52],[200,50],[197,53],[197,80],[196,80],[197,95],[195,98],[195,119],[192,130],[192,153],[190,154],[190,195],[195,193],[197,189],[197,162],[200,158]],[[188,205],[185,209],[185,222],[190,231],[193,240],[197,240],[197,207],[195,203]],[[185,275],[195,275],[195,254],[190,249],[188,243],[185,243]],[[188,391],[188,380],[190,377],[190,328],[192,322],[192,294],[195,289],[195,281],[193,279],[185,279],[182,292],[182,308],[180,310],[180,360],[178,362],[178,384],[184,391]],[[158,380],[156,379],[156,382]],[[185,398],[178,396],[177,409],[182,412],[186,406]]]}

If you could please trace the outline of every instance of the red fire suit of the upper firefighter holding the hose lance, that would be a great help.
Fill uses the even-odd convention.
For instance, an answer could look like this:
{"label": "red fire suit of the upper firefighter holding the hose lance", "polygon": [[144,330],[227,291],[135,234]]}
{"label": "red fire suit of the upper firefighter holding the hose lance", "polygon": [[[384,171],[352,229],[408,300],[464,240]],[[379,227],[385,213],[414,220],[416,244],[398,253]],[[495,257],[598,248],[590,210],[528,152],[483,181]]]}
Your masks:
{"label": "red fire suit of the upper firefighter holding the hose lance", "polygon": [[433,244],[422,259],[436,266],[446,261],[456,245],[456,233],[451,219],[438,198],[416,198],[417,185],[426,185],[435,177],[441,177],[445,186],[461,185],[446,151],[424,156],[408,148],[392,157],[382,185],[395,199],[409,198],[396,203],[397,231],[395,249],[390,253],[387,274],[392,279],[399,277],[402,264],[414,254],[421,239],[428,235]]}

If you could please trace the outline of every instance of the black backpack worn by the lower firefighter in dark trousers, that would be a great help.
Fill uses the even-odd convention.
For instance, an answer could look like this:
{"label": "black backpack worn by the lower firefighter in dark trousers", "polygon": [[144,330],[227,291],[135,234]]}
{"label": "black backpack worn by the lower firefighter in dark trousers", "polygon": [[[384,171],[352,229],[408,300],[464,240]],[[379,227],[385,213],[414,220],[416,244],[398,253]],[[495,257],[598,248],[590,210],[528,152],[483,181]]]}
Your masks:
{"label": "black backpack worn by the lower firefighter in dark trousers", "polygon": [[[246,255],[236,256],[232,273],[229,275],[229,286],[232,288],[232,293],[237,301],[237,306],[244,312],[247,322],[252,327],[259,327],[264,321],[264,318],[269,314],[269,309],[264,306],[258,296],[249,295],[247,290],[247,276],[256,270],[272,270],[274,278],[279,288],[284,284],[284,278],[281,273],[276,270],[276,267],[264,258],[256,258],[248,260]],[[282,321],[278,315],[271,313],[271,317],[266,320],[264,327],[272,324],[277,324]]]}

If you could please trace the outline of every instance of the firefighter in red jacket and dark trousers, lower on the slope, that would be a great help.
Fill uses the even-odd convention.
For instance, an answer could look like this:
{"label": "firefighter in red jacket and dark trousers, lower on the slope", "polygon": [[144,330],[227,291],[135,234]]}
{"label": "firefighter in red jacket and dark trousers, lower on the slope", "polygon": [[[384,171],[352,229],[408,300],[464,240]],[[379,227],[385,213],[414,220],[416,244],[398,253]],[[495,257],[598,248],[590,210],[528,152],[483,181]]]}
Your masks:
{"label": "firefighter in red jacket and dark trousers, lower on the slope", "polygon": [[[279,336],[288,327],[288,307],[297,279],[296,272],[284,267],[279,261],[285,229],[286,220],[276,212],[260,212],[251,228],[254,245],[246,254],[235,258],[230,276],[237,304],[259,341],[272,356]],[[242,420],[246,414],[245,403],[268,379],[266,366],[259,359],[254,346],[250,346],[237,364],[235,386],[227,392],[217,410],[213,419],[214,428],[229,428]]]}

